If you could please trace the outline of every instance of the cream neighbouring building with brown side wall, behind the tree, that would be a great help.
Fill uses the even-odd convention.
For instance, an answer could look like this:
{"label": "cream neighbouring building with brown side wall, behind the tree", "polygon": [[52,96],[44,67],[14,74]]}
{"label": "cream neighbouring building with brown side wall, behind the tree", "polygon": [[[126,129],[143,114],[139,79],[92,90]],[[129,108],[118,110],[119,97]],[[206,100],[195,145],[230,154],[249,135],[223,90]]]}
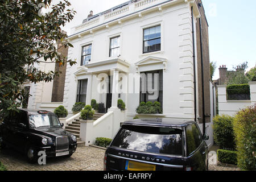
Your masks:
{"label": "cream neighbouring building with brown side wall, behind the tree", "polygon": [[[67,34],[67,32],[63,32]],[[64,48],[61,46],[60,41],[56,43],[56,48],[61,56],[68,56],[68,47]],[[30,72],[32,67],[35,67],[46,73],[50,71],[61,73],[59,76],[55,76],[51,82],[42,81],[36,84],[30,81],[24,82],[23,86],[26,88],[27,92],[30,93],[31,97],[27,99],[26,103],[23,103],[23,107],[53,111],[56,107],[63,104],[67,64],[59,65],[59,63],[55,63],[54,61],[51,63],[51,60],[44,61],[43,57],[40,58],[39,61],[40,64],[26,67],[27,71]]]}

